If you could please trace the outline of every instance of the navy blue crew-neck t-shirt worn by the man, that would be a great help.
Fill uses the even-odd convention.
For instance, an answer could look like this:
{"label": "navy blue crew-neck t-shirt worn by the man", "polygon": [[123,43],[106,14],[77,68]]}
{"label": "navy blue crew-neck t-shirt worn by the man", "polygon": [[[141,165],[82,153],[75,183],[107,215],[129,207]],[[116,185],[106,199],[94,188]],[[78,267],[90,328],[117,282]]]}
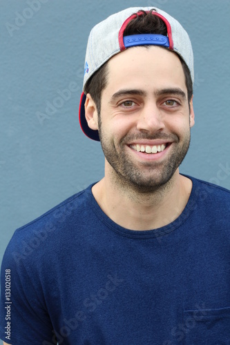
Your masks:
{"label": "navy blue crew-neck t-shirt worn by the man", "polygon": [[189,178],[184,211],[162,228],[118,226],[90,186],[16,230],[1,267],[1,339],[230,344],[230,193]]}

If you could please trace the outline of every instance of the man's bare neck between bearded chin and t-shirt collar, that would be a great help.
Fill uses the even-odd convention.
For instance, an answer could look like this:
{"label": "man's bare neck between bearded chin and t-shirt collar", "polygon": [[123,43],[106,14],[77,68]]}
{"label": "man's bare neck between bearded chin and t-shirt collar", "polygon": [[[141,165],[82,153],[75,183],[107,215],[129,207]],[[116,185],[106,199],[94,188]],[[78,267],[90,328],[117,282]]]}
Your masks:
{"label": "man's bare neck between bearded chin and t-shirt collar", "polygon": [[151,230],[170,224],[182,213],[191,188],[191,180],[180,175],[179,170],[164,186],[150,191],[124,183],[106,170],[104,179],[92,191],[104,213],[119,226]]}

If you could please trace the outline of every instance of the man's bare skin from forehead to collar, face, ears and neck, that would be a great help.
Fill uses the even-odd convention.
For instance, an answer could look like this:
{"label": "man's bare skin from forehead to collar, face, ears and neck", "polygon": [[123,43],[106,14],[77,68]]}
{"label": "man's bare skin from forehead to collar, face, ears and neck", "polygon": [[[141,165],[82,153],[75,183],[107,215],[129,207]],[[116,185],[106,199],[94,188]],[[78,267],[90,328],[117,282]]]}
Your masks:
{"label": "man's bare skin from forehead to collar, face, ears and neck", "polygon": [[105,177],[93,195],[124,228],[160,228],[182,212],[192,187],[178,170],[194,123],[182,63],[159,46],[137,46],[112,57],[106,68],[100,113],[89,93],[85,103],[88,126],[99,130],[106,157]]}

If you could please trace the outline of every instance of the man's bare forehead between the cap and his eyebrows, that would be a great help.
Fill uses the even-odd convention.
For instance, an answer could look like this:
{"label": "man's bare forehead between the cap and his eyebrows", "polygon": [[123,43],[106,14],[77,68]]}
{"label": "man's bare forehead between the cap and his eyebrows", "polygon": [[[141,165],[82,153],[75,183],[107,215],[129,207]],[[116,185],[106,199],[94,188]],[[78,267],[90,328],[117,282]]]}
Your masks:
{"label": "man's bare forehead between the cap and his eyebrows", "polygon": [[169,88],[186,90],[182,63],[175,52],[157,46],[137,46],[108,61],[106,89]]}

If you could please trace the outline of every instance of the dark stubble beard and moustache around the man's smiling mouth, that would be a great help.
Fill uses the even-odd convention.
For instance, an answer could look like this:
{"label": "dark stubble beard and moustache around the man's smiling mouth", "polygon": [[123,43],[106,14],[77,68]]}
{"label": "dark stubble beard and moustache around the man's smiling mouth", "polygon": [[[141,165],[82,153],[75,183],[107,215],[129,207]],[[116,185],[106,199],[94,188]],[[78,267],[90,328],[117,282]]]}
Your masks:
{"label": "dark stubble beard and moustache around the man's smiling mouth", "polygon": [[[132,188],[137,193],[153,193],[157,190],[162,191],[170,185],[171,179],[178,169],[190,145],[190,130],[182,143],[177,135],[162,135],[158,133],[152,136],[142,137],[128,136],[119,141],[117,146],[113,140],[106,137],[102,124],[99,121],[99,138],[102,145],[104,156],[108,164],[112,167],[113,179],[117,186],[122,188]],[[135,142],[137,139],[165,139],[173,141],[171,155],[163,162],[146,161],[137,166],[133,160],[126,154],[126,142]],[[146,154],[147,155],[147,154]]]}

